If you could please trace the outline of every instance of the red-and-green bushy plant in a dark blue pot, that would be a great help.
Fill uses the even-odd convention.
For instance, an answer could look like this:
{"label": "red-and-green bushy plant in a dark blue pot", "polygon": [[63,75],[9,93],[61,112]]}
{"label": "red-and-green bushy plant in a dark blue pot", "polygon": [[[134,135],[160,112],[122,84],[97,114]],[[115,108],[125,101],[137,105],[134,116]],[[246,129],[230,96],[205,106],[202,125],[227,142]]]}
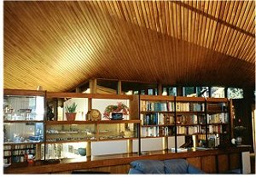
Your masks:
{"label": "red-and-green bushy plant in a dark blue pot", "polygon": [[[117,105],[109,105],[105,108],[103,113],[103,117],[112,120],[121,120],[123,119],[123,115],[128,115],[129,107],[125,106],[125,104],[118,102]],[[111,118],[110,118],[111,115]]]}

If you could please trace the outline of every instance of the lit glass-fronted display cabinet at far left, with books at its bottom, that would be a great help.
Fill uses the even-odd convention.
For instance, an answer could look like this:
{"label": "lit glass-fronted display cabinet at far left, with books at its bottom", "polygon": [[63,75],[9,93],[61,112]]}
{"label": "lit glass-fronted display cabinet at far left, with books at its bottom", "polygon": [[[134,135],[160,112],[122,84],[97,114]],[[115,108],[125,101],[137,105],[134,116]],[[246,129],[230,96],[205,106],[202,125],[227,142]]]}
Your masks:
{"label": "lit glass-fronted display cabinet at far left, with books at its bottom", "polygon": [[44,91],[3,90],[3,163],[44,158]]}

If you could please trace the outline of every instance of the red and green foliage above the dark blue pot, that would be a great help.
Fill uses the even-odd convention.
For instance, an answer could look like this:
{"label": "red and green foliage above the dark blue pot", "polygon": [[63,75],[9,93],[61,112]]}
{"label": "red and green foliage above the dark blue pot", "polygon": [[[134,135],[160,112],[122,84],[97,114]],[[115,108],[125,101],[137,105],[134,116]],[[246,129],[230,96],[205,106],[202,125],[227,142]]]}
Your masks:
{"label": "red and green foliage above the dark blue pot", "polygon": [[124,115],[128,115],[129,107],[121,102],[118,102],[117,105],[109,105],[105,108],[103,117],[109,118],[111,112],[122,112]]}

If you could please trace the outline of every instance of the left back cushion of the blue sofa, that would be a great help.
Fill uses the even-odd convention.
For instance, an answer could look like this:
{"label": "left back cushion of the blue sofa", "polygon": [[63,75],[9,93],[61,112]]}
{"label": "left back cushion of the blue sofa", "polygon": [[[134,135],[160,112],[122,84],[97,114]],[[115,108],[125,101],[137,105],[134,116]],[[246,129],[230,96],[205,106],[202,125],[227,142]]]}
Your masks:
{"label": "left back cushion of the blue sofa", "polygon": [[159,160],[137,160],[130,163],[132,168],[136,168],[143,174],[165,174],[165,164]]}

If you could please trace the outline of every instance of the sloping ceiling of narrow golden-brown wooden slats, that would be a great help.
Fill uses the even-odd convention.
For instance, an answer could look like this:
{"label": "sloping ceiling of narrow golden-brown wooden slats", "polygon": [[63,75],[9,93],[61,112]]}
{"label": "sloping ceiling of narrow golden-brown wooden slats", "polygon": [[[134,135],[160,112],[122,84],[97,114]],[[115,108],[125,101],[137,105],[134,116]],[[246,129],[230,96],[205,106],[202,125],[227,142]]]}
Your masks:
{"label": "sloping ceiling of narrow golden-brown wooden slats", "polygon": [[3,3],[3,87],[90,78],[254,87],[254,1]]}

